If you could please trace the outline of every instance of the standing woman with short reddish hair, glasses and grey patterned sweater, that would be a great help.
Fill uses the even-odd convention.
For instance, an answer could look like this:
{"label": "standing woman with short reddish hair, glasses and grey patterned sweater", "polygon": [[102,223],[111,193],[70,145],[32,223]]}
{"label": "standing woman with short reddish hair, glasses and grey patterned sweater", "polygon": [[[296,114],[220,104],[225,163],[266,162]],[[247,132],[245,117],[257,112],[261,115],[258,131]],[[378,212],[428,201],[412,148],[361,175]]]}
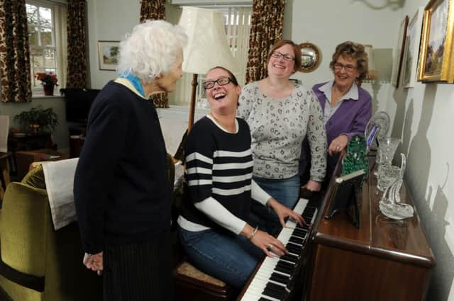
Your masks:
{"label": "standing woman with short reddish hair, glasses and grey patterned sweater", "polygon": [[[311,178],[304,183],[319,191],[326,173],[326,132],[319,101],[312,91],[289,77],[301,67],[301,50],[291,40],[277,42],[268,54],[268,76],[243,87],[237,116],[246,120],[252,136],[253,178],[283,205],[293,208],[299,197],[301,142],[308,137]],[[279,229],[272,212],[253,205],[269,231]],[[257,220],[258,222],[258,220]]]}

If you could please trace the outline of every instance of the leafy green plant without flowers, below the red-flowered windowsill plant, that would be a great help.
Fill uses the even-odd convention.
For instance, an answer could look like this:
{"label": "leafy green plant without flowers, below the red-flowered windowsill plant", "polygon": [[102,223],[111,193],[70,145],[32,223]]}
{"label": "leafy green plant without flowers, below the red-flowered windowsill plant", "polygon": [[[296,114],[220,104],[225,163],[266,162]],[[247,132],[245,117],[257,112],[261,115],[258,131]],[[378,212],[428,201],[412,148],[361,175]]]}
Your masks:
{"label": "leafy green plant without flowers, below the red-flowered windowsill plant", "polygon": [[14,116],[24,132],[33,132],[35,135],[41,132],[52,132],[58,125],[57,114],[53,108],[37,106],[31,110],[24,110]]}

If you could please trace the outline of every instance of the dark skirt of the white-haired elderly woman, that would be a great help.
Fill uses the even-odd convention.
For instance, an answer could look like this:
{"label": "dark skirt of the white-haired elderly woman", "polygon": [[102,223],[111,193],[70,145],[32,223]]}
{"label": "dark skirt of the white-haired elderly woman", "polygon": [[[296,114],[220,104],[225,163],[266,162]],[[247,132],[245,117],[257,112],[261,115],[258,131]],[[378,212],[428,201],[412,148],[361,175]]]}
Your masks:
{"label": "dark skirt of the white-haired elderly woman", "polygon": [[173,300],[170,232],[147,242],[106,245],[104,301]]}

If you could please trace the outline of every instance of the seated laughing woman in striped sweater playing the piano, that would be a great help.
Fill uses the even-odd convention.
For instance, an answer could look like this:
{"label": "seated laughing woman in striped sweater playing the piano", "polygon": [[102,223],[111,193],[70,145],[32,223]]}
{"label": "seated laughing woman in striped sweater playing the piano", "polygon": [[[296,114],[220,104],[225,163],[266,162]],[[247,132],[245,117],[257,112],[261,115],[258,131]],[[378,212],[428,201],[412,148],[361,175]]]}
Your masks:
{"label": "seated laughing woman in striped sweater playing the piano", "polygon": [[282,225],[284,217],[304,221],[252,181],[250,131],[236,118],[241,90],[235,76],[215,67],[206,74],[204,89],[211,113],[187,137],[179,234],[194,266],[241,288],[264,254],[287,252],[282,242],[246,222],[251,197],[275,210]]}

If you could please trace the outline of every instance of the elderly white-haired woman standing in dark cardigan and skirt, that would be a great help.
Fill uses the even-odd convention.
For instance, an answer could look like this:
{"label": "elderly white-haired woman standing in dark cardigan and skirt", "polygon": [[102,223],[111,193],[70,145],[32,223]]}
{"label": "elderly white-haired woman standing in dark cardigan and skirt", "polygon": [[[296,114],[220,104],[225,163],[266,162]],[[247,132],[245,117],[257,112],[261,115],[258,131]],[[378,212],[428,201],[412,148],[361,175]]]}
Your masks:
{"label": "elderly white-haired woman standing in dark cardigan and skirt", "polygon": [[120,44],[118,79],[90,109],[74,177],[83,263],[104,273],[104,300],[173,300],[167,153],[153,100],[175,89],[187,35],[165,21]]}

